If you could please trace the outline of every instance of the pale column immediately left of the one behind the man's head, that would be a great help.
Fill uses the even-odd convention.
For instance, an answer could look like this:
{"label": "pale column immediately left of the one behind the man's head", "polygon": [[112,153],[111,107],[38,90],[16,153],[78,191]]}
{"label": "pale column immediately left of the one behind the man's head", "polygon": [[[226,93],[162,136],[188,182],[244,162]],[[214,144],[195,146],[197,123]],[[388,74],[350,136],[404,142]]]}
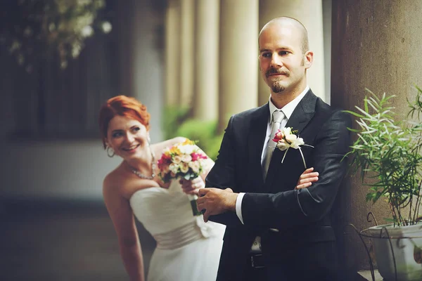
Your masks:
{"label": "pale column immediately left of the one behind the man's head", "polygon": [[234,113],[257,106],[258,2],[221,1],[219,130]]}

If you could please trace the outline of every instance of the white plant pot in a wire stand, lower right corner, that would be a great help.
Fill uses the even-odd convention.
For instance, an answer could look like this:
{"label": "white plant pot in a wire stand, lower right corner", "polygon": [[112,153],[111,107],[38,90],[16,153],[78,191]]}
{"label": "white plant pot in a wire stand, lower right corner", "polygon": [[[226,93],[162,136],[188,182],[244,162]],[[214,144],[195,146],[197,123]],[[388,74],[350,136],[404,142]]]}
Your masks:
{"label": "white plant pot in a wire stand, lower right corner", "polygon": [[378,271],[384,280],[396,280],[395,270],[398,281],[422,280],[422,224],[374,226],[361,234],[371,237]]}

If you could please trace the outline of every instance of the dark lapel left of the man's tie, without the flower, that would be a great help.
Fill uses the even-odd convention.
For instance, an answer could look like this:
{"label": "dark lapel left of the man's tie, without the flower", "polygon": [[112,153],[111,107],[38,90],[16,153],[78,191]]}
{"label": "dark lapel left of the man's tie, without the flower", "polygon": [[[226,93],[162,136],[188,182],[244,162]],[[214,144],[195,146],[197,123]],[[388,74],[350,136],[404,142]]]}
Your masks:
{"label": "dark lapel left of the man's tie, without the flower", "polygon": [[248,138],[250,191],[260,191],[262,185],[264,185],[261,155],[267,133],[268,117],[269,105],[267,103],[255,112],[255,116],[250,121],[250,136]]}

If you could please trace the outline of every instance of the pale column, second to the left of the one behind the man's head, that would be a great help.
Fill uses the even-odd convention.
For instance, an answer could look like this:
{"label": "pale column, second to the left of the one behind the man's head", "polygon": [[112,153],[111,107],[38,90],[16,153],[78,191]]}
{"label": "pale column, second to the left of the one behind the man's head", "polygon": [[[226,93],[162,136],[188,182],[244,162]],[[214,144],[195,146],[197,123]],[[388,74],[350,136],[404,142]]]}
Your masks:
{"label": "pale column, second to the left of the one behind the man's head", "polygon": [[193,117],[217,119],[219,1],[196,1]]}

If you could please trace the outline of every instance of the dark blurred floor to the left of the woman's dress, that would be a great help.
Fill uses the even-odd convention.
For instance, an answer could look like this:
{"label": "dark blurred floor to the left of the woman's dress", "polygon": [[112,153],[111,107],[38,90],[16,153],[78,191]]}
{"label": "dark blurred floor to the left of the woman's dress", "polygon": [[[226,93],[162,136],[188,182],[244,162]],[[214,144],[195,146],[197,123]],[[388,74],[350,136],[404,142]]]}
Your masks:
{"label": "dark blurred floor to the left of the woman's dress", "polygon": [[[0,280],[129,280],[102,202],[3,202],[0,222]],[[139,236],[148,268],[155,242]]]}

